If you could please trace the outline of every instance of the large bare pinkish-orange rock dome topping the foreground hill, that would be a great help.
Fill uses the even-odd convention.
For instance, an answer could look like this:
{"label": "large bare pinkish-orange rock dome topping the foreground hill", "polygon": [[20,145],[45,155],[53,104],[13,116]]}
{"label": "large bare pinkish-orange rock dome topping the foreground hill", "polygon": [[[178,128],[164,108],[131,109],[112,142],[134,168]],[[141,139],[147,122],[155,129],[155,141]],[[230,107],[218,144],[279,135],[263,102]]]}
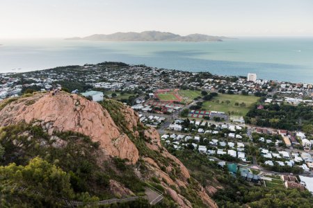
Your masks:
{"label": "large bare pinkish-orange rock dome topping the foreground hill", "polygon": [[139,158],[136,146],[120,132],[109,112],[99,103],[88,101],[77,94],[60,92],[36,94],[10,103],[0,111],[0,125],[20,121],[44,121],[47,131],[73,131],[99,141],[107,155],[129,159],[135,164]]}

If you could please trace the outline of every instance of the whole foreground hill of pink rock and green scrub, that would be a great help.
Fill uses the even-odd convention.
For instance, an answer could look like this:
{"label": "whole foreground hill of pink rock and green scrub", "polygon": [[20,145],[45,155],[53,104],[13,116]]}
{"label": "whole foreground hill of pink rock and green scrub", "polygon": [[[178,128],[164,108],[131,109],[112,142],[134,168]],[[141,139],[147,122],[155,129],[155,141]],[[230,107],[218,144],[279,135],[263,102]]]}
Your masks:
{"label": "whole foreground hill of pink rock and green scrub", "polygon": [[[0,126],[0,173],[9,175],[0,177],[0,189],[11,190],[3,191],[9,207],[25,198],[35,206],[31,199],[49,205],[60,198],[68,203],[141,196],[146,182],[164,192],[161,207],[216,207],[182,162],[161,146],[157,130],[117,101],[95,103],[66,92],[9,98],[0,103]],[[49,193],[48,200],[47,189],[61,188],[42,179],[48,181],[43,189],[38,177],[38,183],[29,180],[36,166],[64,171],[63,192]],[[16,183],[27,191],[6,187]]]}

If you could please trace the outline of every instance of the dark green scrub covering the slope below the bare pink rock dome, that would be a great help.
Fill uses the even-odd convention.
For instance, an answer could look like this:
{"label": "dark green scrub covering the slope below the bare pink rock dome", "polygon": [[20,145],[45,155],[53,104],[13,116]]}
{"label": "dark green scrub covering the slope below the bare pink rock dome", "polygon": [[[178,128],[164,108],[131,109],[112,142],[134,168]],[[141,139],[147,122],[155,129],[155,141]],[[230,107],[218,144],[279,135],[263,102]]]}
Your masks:
{"label": "dark green scrub covering the slope below the bare pink rock dome", "polygon": [[3,207],[64,207],[68,200],[118,197],[113,196],[109,180],[134,193],[144,191],[135,166],[115,158],[100,162],[99,144],[79,133],[58,132],[50,137],[40,125],[19,123],[1,128],[0,146]]}

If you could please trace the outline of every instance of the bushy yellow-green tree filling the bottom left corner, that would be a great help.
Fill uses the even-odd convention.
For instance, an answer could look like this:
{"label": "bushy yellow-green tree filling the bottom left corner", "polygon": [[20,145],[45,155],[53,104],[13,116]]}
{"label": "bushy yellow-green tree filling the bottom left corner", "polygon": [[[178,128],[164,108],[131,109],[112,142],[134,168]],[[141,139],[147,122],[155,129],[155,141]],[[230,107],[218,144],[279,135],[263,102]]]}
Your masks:
{"label": "bushy yellow-green tree filling the bottom left corner", "polygon": [[0,166],[0,175],[5,176],[0,177],[0,189],[2,198],[8,203],[26,197],[26,202],[33,205],[29,207],[42,207],[42,203],[63,207],[62,199],[74,198],[70,175],[40,157],[35,157],[26,166],[14,163]]}

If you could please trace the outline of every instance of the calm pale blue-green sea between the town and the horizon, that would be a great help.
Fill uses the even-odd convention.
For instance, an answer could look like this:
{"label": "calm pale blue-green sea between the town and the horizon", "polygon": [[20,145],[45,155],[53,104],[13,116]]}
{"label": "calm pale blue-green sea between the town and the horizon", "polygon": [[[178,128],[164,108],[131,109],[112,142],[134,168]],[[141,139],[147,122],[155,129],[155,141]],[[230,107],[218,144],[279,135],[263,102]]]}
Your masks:
{"label": "calm pale blue-green sea between the town and the horizon", "polygon": [[218,75],[313,83],[313,38],[239,38],[224,42],[0,40],[0,73],[120,61]]}

